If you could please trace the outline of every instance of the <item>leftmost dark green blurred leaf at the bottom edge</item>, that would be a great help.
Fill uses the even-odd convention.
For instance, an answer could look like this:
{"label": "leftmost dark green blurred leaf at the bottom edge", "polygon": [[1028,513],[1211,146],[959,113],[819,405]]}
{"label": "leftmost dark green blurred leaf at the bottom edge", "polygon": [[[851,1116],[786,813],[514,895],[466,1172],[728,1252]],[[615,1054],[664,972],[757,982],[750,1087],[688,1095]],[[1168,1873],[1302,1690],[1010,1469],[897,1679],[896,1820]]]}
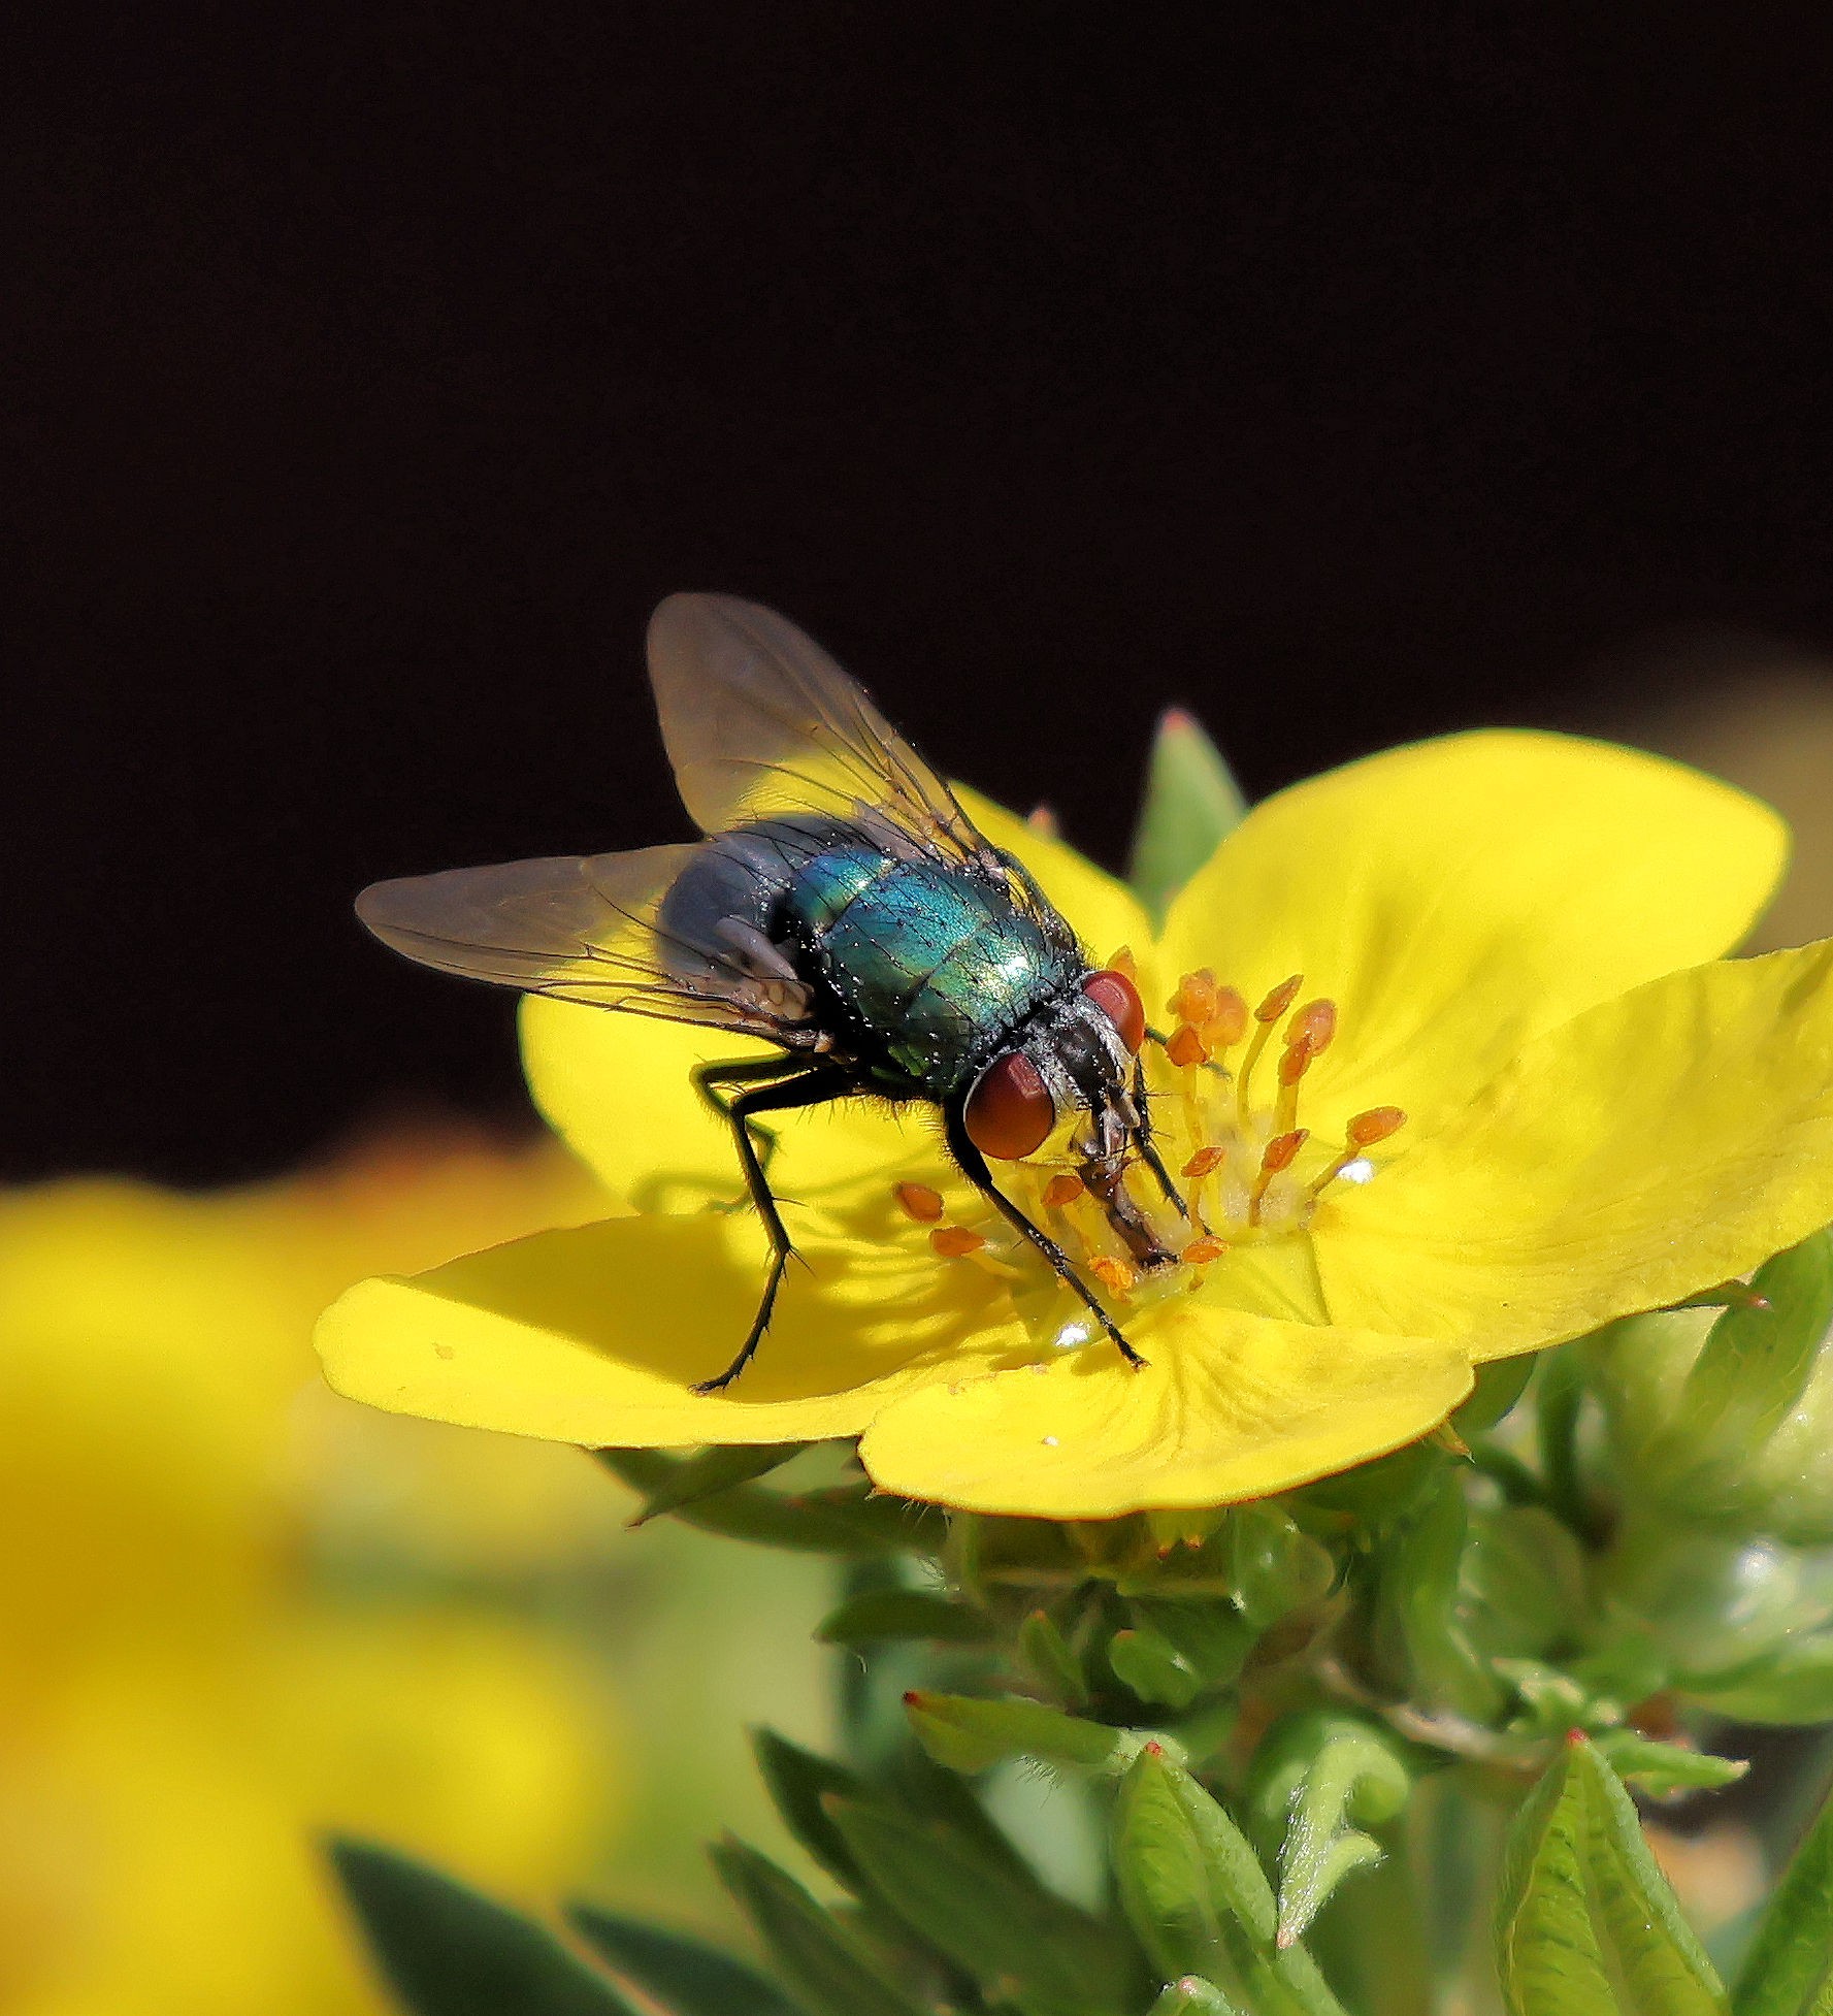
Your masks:
{"label": "leftmost dark green blurred leaf at the bottom edge", "polygon": [[413,2016],[635,2016],[546,1927],[371,1841],[337,1869],[381,1972]]}

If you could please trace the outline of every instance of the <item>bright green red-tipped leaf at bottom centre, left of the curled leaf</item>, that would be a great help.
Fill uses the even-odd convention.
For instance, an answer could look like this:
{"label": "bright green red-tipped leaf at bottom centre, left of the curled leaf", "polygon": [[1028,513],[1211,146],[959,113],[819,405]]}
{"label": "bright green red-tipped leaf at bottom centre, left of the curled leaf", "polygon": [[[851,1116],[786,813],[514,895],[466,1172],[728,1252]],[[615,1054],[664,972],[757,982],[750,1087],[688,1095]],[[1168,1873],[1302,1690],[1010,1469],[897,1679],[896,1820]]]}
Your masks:
{"label": "bright green red-tipped leaf at bottom centre, left of the curled leaf", "polygon": [[1147,1744],[1113,1810],[1121,1909],[1164,1976],[1194,1974],[1256,2016],[1341,2016],[1303,1945],[1280,1947],[1272,1885],[1246,1835]]}

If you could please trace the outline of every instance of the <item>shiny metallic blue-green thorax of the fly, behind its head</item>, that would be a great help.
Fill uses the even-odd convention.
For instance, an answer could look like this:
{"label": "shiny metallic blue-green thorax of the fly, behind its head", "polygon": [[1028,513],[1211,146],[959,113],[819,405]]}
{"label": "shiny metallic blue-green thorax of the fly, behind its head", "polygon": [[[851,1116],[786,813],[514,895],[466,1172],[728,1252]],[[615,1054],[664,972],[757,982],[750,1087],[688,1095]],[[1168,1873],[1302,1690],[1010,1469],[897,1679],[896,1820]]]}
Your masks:
{"label": "shiny metallic blue-green thorax of the fly, behind its head", "polygon": [[843,1014],[875,1038],[885,1081],[934,1099],[1081,974],[1073,948],[1053,943],[1004,891],[869,841],[811,859],[784,913]]}

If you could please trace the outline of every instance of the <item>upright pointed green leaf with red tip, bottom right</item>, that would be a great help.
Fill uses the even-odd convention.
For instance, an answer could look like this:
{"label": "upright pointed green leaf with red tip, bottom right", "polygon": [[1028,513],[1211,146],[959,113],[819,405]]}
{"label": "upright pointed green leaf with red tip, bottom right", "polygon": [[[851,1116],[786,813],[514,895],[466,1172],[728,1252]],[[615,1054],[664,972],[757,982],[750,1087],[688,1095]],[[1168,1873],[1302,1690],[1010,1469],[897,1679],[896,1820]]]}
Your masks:
{"label": "upright pointed green leaf with red tip, bottom right", "polygon": [[1514,1816],[1496,1966],[1510,2016],[1724,2016],[1728,2008],[1629,1794],[1583,1736],[1567,1740]]}

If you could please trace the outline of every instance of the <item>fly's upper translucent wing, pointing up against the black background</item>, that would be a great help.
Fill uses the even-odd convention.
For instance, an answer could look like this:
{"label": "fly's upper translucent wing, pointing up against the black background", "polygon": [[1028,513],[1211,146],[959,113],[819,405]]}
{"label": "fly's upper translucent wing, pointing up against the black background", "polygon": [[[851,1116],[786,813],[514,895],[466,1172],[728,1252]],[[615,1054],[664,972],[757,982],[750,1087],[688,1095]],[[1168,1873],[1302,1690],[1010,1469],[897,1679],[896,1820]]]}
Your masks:
{"label": "fly's upper translucent wing, pointing up against the black background", "polygon": [[772,609],[669,595],[649,619],[649,683],[682,802],[704,833],[813,812],[863,825],[893,853],[996,867],[948,784]]}

